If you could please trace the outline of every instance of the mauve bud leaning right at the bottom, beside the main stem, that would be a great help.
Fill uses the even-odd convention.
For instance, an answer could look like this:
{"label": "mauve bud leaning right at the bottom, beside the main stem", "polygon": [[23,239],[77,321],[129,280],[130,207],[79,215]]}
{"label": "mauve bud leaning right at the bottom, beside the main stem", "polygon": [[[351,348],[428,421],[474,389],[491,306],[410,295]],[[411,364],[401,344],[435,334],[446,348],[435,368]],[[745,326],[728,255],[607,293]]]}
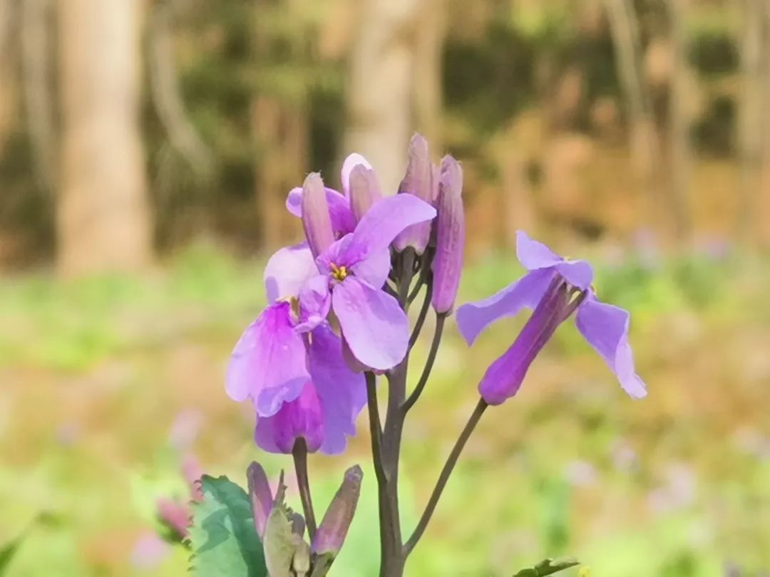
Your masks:
{"label": "mauve bud leaning right at the bottom, beside the main stem", "polygon": [[326,509],[321,524],[318,525],[316,536],[313,538],[312,549],[316,555],[329,555],[332,559],[340,549],[353,521],[361,492],[363,471],[358,465],[350,467],[345,472],[340,489],[337,489],[334,499]]}

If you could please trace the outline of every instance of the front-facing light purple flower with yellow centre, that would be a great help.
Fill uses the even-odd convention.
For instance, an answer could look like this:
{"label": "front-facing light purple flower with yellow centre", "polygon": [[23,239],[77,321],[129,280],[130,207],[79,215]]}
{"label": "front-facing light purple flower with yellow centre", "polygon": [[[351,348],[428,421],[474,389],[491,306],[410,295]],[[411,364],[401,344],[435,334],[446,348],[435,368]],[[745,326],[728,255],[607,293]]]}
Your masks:
{"label": "front-facing light purple flower with yellow centre", "polygon": [[407,315],[396,299],[380,290],[390,272],[390,243],[405,228],[430,221],[436,210],[413,195],[383,198],[363,215],[352,233],[318,258],[318,273],[300,291],[303,330],[333,309],[343,339],[355,359],[387,370],[406,355]]}

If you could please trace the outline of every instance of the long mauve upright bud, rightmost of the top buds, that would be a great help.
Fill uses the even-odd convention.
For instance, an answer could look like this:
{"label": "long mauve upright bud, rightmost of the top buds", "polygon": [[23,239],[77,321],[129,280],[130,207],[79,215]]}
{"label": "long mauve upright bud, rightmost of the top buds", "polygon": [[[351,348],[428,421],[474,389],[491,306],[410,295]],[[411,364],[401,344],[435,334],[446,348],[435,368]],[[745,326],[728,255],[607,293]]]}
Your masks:
{"label": "long mauve upright bud, rightmost of the top buds", "polygon": [[436,255],[432,304],[437,313],[451,312],[465,248],[465,213],[463,210],[463,169],[450,155],[441,160],[436,217]]}

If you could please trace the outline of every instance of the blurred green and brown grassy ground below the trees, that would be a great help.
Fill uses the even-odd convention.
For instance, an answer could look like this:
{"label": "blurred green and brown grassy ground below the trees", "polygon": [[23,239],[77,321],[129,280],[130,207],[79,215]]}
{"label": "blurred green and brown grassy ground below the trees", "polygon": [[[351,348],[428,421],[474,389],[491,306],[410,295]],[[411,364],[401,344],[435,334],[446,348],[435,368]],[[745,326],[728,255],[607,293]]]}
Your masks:
{"label": "blurred green and brown grassy ground below the trees", "polygon": [[[601,297],[631,309],[648,399],[628,399],[562,327],[517,398],[484,416],[409,575],[511,575],[560,554],[597,576],[770,568],[770,262],[724,245],[676,258],[644,243],[593,252]],[[484,258],[465,272],[464,298],[517,272],[512,258]],[[182,452],[239,482],[251,459],[290,467],[259,454],[249,407],[223,391],[229,351],[262,305],[259,262],[205,246],[149,278],[0,282],[0,543],[27,530],[10,575],[184,575],[183,549],[156,560],[137,545],[157,527],[155,499],[184,495]],[[407,520],[520,322],[472,352],[450,325],[407,425]],[[320,505],[347,465],[367,462],[363,415],[360,431],[343,457],[313,459]],[[364,483],[333,575],[377,567],[371,472]]]}

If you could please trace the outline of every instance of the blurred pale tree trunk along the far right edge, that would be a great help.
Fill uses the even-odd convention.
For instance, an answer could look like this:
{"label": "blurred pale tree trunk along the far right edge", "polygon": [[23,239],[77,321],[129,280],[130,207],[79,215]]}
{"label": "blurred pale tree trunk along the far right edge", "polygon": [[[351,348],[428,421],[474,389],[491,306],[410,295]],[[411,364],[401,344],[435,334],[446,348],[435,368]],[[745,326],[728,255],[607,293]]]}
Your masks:
{"label": "blurred pale tree trunk along the far right edge", "polygon": [[[740,202],[737,237],[744,242],[755,239],[757,201],[762,182],[762,126],[767,101],[763,70],[768,58],[765,38],[767,0],[745,0],[741,28],[742,98],[738,118],[740,154]],[[763,59],[764,58],[764,59]]]}

